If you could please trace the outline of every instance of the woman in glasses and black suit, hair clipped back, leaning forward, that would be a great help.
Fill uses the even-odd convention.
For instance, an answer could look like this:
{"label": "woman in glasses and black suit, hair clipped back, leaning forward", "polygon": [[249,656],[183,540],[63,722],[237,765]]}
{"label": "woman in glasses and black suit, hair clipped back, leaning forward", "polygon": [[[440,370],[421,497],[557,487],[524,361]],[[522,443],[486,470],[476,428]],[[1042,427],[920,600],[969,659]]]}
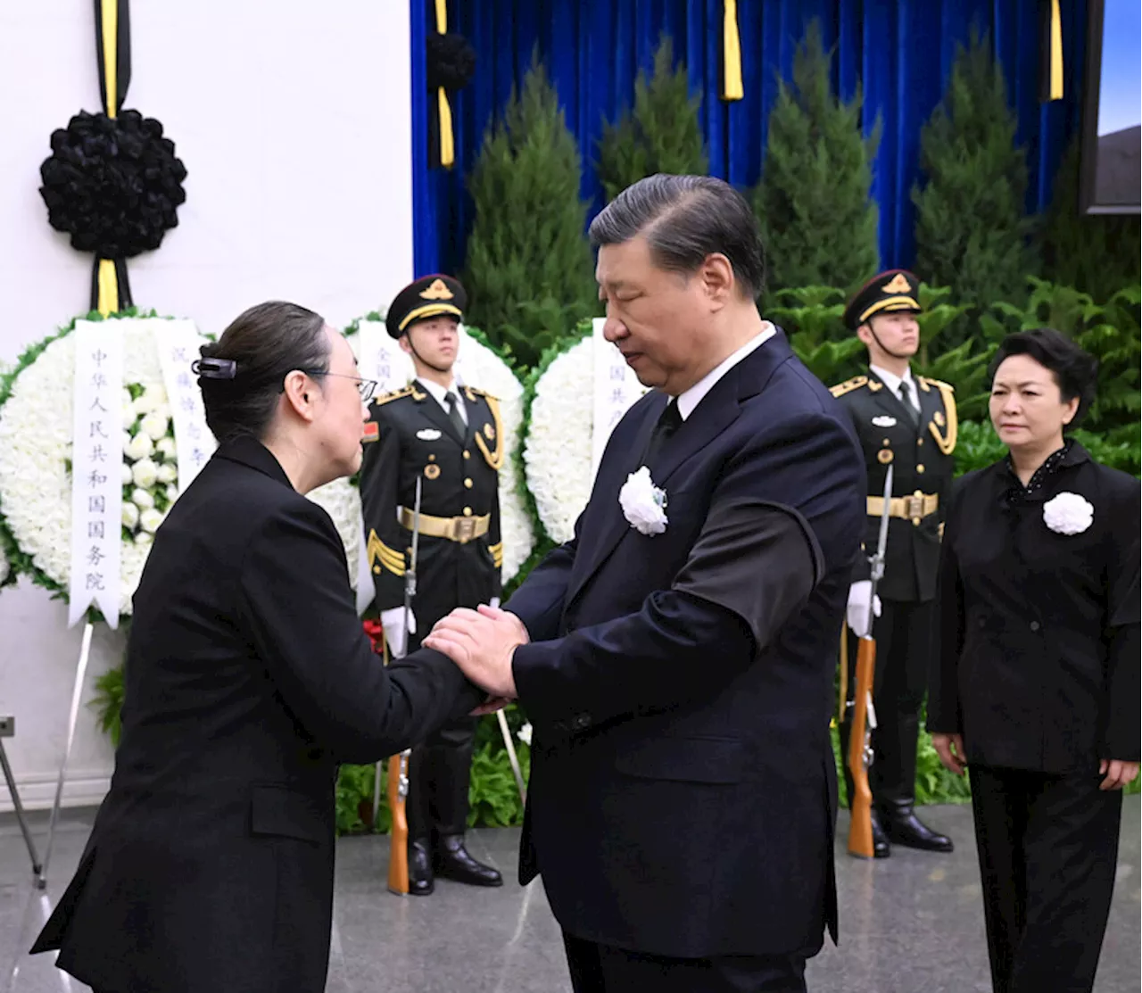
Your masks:
{"label": "woman in glasses and black suit, hair clipped back, leaning forward", "polygon": [[484,694],[431,651],[380,663],[337,530],[303,495],[361,466],[373,385],[345,339],[263,304],[195,371],[219,447],[155,536],[111,791],[32,951],[97,993],[317,993],[338,764]]}

